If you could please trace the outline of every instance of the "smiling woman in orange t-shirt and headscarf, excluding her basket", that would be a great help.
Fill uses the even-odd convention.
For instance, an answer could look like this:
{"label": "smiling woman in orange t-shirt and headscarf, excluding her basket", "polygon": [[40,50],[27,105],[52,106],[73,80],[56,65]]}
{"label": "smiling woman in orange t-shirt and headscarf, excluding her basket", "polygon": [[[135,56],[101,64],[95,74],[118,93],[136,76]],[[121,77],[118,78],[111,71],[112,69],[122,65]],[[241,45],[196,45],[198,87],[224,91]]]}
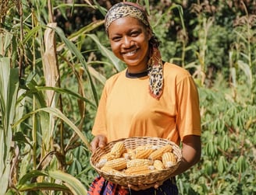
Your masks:
{"label": "smiling woman in orange t-shirt and headscarf, excluding her basket", "polygon": [[126,70],[105,83],[95,117],[91,149],[133,136],[182,143],[183,159],[170,179],[152,185],[119,186],[98,177],[88,194],[178,194],[175,176],[201,156],[201,118],[191,75],[162,61],[158,40],[140,5],[121,2],[108,10],[105,30]]}

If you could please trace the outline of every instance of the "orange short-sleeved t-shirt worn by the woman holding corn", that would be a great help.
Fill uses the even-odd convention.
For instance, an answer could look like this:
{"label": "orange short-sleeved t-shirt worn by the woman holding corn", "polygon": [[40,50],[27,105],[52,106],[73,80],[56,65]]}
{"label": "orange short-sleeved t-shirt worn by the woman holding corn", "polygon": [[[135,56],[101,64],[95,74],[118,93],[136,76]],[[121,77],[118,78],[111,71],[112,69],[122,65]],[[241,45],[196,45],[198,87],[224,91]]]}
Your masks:
{"label": "orange short-sleeved t-shirt worn by the woman holding corn", "polygon": [[105,83],[92,134],[108,141],[133,136],[167,138],[180,145],[186,135],[201,135],[197,87],[190,73],[175,64],[163,66],[160,99],[149,94],[148,75],[126,77],[126,70]]}

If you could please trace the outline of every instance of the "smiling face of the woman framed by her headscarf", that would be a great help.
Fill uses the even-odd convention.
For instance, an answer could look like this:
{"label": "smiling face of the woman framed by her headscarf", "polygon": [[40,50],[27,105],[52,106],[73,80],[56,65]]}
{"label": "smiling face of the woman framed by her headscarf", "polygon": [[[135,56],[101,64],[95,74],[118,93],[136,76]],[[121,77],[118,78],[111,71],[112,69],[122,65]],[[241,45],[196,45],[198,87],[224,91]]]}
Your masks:
{"label": "smiling face of the woman framed by her headscarf", "polygon": [[113,53],[126,63],[130,72],[145,71],[148,68],[151,30],[138,19],[116,19],[108,28],[108,37]]}

